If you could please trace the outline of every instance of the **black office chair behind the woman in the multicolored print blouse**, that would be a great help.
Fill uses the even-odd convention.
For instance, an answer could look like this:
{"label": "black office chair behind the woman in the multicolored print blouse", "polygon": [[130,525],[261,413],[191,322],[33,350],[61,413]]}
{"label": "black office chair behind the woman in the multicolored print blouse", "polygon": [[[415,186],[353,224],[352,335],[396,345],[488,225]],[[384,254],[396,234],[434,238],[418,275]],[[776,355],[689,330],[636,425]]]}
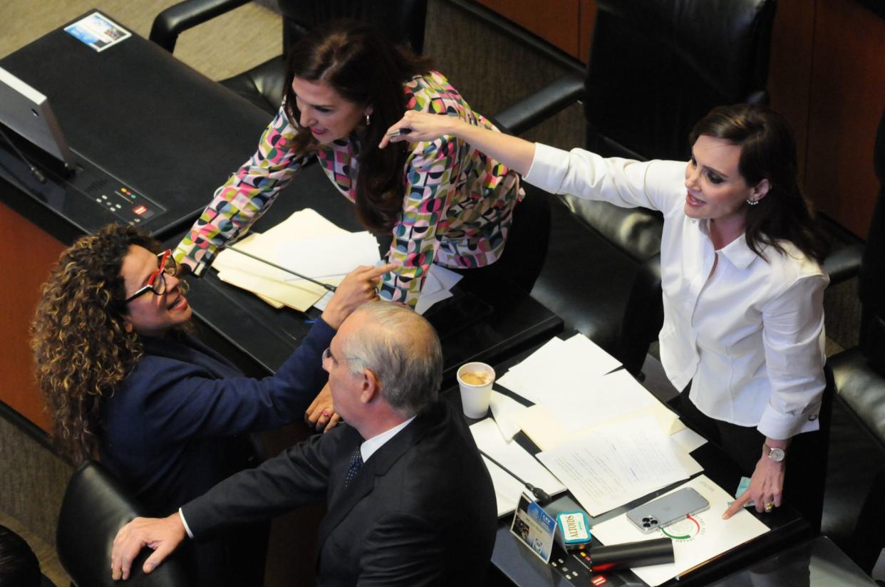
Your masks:
{"label": "black office chair behind the woman in the multicolored print blouse", "polygon": [[[160,12],[150,28],[150,40],[170,52],[178,35],[220,14],[229,12],[248,0],[186,0]],[[424,22],[427,0],[278,0],[283,16],[283,53],[313,27],[333,19],[358,19],[372,23],[392,42],[408,43],[413,51],[424,48]],[[279,110],[285,90],[284,55],[269,59],[249,71],[221,81],[262,110]]]}

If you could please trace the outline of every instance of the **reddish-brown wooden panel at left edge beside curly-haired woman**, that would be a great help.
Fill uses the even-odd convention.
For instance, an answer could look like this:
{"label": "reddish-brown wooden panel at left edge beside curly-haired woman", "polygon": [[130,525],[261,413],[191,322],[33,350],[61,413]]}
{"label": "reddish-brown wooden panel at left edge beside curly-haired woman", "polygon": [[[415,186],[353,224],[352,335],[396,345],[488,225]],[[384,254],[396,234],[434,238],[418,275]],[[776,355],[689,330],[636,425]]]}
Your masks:
{"label": "reddish-brown wooden panel at left edge beside curly-haired woman", "polygon": [[3,204],[0,235],[4,236],[4,246],[0,247],[0,267],[4,272],[0,287],[0,401],[50,432],[52,422],[43,413],[43,398],[34,381],[28,330],[40,286],[65,245]]}

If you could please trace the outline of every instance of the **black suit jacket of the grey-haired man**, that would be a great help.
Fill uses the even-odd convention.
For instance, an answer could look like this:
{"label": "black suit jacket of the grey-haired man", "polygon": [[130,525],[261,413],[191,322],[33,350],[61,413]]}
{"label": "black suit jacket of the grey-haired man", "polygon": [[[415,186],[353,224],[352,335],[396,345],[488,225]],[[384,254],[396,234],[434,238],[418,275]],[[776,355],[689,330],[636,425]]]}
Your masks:
{"label": "black suit jacket of the grey-haired man", "polygon": [[489,471],[464,419],[432,406],[343,487],[363,439],[338,427],[219,483],[182,508],[197,540],[327,499],[317,545],[322,585],[472,585],[495,544]]}

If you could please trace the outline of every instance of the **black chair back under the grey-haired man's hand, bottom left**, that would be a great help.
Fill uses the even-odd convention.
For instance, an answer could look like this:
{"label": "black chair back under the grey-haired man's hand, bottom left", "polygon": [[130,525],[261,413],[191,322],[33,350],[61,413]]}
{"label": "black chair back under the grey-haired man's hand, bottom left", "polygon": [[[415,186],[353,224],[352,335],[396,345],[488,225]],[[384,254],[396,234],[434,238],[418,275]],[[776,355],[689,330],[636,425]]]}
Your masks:
{"label": "black chair back under the grey-haired man's hand, bottom left", "polygon": [[[67,484],[58,514],[56,549],[58,560],[76,587],[119,587],[111,578],[113,539],[128,521],[140,515],[141,507],[106,468],[85,460]],[[150,575],[142,564],[150,555],[143,549],[135,559],[127,587],[189,587],[181,561],[174,555]]]}

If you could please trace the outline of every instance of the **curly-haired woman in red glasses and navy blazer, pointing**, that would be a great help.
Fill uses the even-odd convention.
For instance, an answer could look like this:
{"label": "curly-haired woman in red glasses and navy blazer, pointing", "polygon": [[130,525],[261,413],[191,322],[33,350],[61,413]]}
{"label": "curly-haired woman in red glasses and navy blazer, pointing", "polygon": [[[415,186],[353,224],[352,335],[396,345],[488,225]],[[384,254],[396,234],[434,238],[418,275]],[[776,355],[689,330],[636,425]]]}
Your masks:
{"label": "curly-haired woman in red glasses and navy blazer, pointing", "polygon": [[[33,324],[55,440],[75,462],[99,458],[152,514],[170,514],[249,466],[254,454],[238,435],[304,413],[327,380],[321,356],[335,328],[376,297],[384,271],[351,272],[280,370],[256,380],[189,336],[187,288],[170,251],[127,226],[81,237],[50,273]],[[263,528],[198,546],[199,583],[261,584],[265,543]]]}

